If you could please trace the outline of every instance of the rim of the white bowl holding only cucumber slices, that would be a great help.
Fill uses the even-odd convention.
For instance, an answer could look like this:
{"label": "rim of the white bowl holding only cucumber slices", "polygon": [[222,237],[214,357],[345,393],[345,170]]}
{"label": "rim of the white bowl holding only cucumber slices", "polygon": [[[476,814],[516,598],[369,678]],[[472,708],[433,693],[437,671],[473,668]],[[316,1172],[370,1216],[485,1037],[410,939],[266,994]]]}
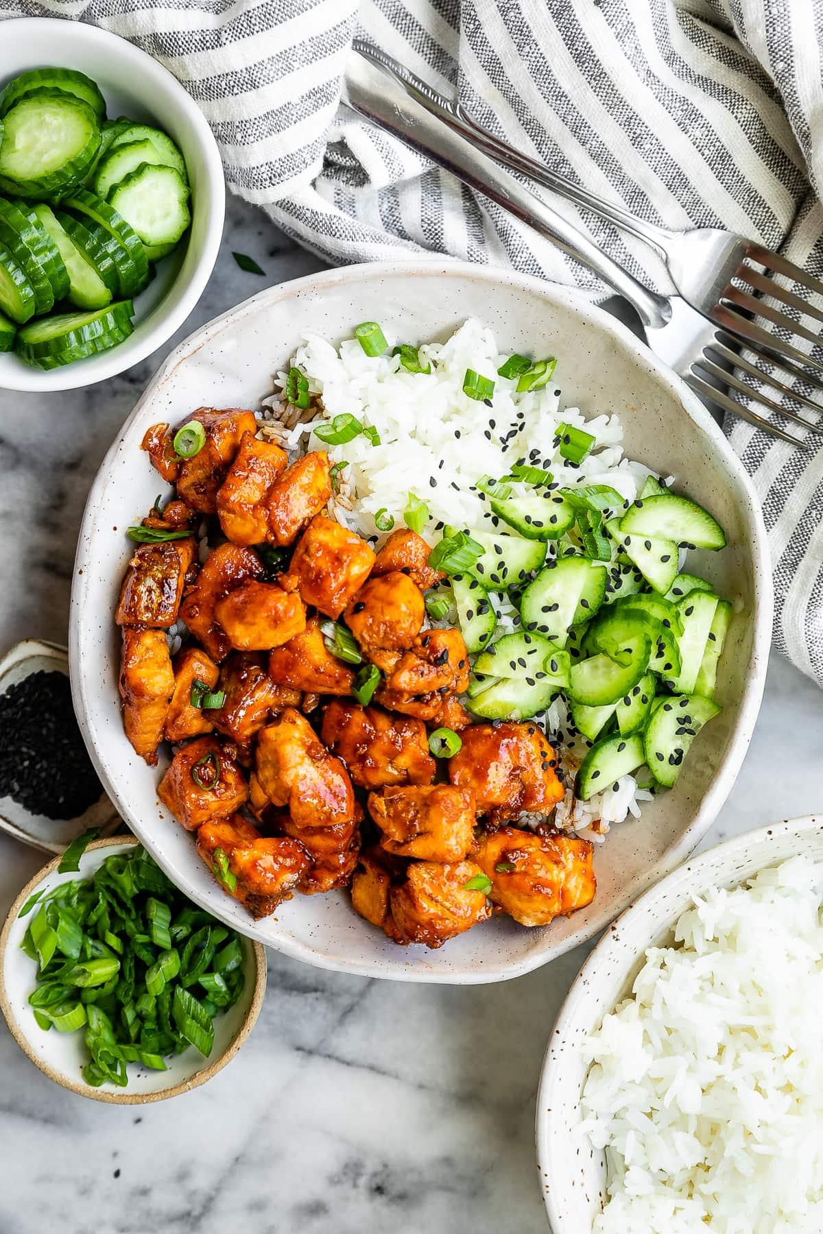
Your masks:
{"label": "rim of the white bowl holding only cucumber slices", "polygon": [[[49,371],[41,371],[35,368],[28,369],[28,366],[23,365],[20,371],[12,369],[10,374],[4,373],[2,384],[0,384],[0,389],[2,390],[16,390],[23,394],[62,394],[65,390],[78,390],[118,376],[126,369],[139,364],[147,355],[155,352],[183,326],[196,307],[217,262],[226,218],[226,176],[217,141],[204,112],[174,73],[170,73],[154,57],[142,51],[134,43],[131,43],[122,35],[104,30],[101,26],[90,26],[86,22],[72,21],[67,17],[12,16],[0,22],[0,25],[11,26],[11,22],[15,22],[15,35],[26,44],[38,35],[46,33],[47,30],[51,31],[59,26],[69,39],[77,38],[85,41],[91,47],[97,46],[110,56],[117,57],[121,62],[131,60],[144,78],[147,97],[151,94],[153,83],[163,83],[173,95],[175,105],[191,122],[205,168],[205,193],[207,193],[209,202],[202,251],[173,311],[163,315],[141,341],[134,342],[133,338],[125,339],[117,347],[91,357],[88,364],[67,364],[63,368]],[[67,27],[69,28],[67,30]],[[147,106],[151,110],[151,105],[147,104]],[[154,311],[162,312],[162,307],[163,301],[160,301]]]}

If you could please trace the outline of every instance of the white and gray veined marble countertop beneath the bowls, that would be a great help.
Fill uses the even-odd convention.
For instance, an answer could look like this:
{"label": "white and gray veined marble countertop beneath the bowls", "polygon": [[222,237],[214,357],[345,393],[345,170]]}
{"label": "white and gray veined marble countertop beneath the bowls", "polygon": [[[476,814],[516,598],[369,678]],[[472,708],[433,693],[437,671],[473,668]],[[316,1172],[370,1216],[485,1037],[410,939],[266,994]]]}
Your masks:
{"label": "white and gray veined marble countertop beneath the bowls", "polygon": [[[232,249],[267,279],[239,270]],[[320,268],[234,201],[180,337],[268,283]],[[89,390],[0,391],[0,649],[26,636],[65,642],[86,491],[172,346]],[[774,656],[756,734],[706,845],[823,810],[822,765],[823,695]],[[0,835],[0,914],[42,861]],[[468,988],[323,972],[270,953],[265,1006],[237,1060],[186,1097],[146,1107],[65,1092],[0,1023],[0,1232],[545,1234],[534,1093],[586,950]]]}

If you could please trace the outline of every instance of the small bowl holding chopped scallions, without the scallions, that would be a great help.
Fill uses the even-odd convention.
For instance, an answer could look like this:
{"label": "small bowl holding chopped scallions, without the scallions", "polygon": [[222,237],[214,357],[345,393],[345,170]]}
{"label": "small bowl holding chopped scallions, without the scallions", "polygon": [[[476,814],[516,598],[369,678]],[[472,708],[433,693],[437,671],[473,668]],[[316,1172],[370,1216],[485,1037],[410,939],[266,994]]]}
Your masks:
{"label": "small bowl holding chopped scallions, without the scallions", "polygon": [[194,1046],[189,1046],[183,1054],[167,1060],[167,1071],[152,1071],[130,1064],[126,1088],[117,1088],[110,1083],[93,1088],[84,1081],[81,1069],[89,1061],[89,1055],[83,1033],[57,1033],[53,1029],[44,1033],[37,1027],[28,1006],[28,995],[35,988],[36,966],[20,950],[23,934],[37,908],[26,917],[20,917],[21,908],[36,891],[41,888],[51,891],[60,882],[89,877],[107,856],[127,853],[137,843],[133,837],[123,835],[95,840],[80,858],[80,869],[75,874],[58,874],[59,858],[49,861],[22,888],[9,909],[0,932],[0,1011],[20,1049],[56,1083],[70,1088],[80,1097],[91,1097],[93,1101],[105,1101],[116,1106],[141,1106],[149,1101],[165,1101],[168,1097],[176,1097],[206,1083],[231,1062],[243,1045],[254,1028],[265,995],[265,951],[259,944],[244,939],[243,993],[233,1007],[216,1017],[211,1055],[204,1059]]}

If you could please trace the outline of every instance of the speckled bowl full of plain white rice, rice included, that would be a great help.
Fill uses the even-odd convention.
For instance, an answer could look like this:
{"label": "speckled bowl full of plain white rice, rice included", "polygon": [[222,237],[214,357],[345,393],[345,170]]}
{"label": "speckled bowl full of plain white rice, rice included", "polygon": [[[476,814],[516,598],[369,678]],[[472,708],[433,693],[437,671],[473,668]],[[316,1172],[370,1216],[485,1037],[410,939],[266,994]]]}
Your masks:
{"label": "speckled bowl full of plain white rice, rice included", "polygon": [[823,817],[681,865],[560,1009],[537,1148],[554,1234],[823,1229]]}

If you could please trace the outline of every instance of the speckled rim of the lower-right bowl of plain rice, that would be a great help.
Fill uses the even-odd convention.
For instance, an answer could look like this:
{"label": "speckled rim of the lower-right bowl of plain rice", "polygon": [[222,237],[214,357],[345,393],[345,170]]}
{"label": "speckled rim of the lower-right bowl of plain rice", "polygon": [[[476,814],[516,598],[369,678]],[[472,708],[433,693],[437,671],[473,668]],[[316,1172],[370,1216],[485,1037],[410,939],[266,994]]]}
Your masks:
{"label": "speckled rim of the lower-right bowl of plain rice", "polygon": [[[711,848],[705,849],[695,858],[686,858],[681,861],[674,870],[655,882],[647,891],[643,892],[635,901],[628,905],[611,923],[610,929],[598,939],[596,945],[592,948],[591,953],[586,956],[580,971],[577,972],[575,980],[569,986],[569,991],[560,1004],[560,1011],[558,1012],[556,1019],[552,1027],[548,1037],[545,1051],[543,1054],[543,1061],[540,1064],[540,1079],[537,1086],[537,1104],[534,1109],[534,1149],[537,1156],[537,1167],[540,1178],[540,1191],[543,1192],[543,1202],[545,1204],[545,1211],[549,1218],[549,1224],[555,1234],[561,1234],[568,1228],[566,1217],[558,1209],[554,1202],[554,1192],[552,1188],[552,1178],[558,1172],[558,1167],[554,1164],[554,1157],[550,1148],[550,1139],[548,1133],[548,1111],[549,1111],[549,1090],[554,1083],[555,1069],[561,1065],[560,1054],[553,1054],[556,1048],[556,1043],[565,1041],[569,1037],[570,1029],[575,1024],[579,1024],[579,1011],[581,1006],[585,1006],[585,1000],[590,998],[590,992],[597,988],[600,982],[601,969],[608,963],[608,958],[616,946],[622,945],[622,932],[621,927],[631,926],[635,918],[643,917],[649,906],[659,905],[665,902],[672,887],[676,887],[679,881],[684,877],[686,872],[693,875],[696,893],[698,895],[707,886],[717,886],[723,884],[723,877],[718,877],[717,874],[711,880],[711,884],[703,884],[701,880],[701,874],[706,866],[711,866],[719,853],[723,854],[723,865],[729,868],[734,865],[738,858],[745,856],[748,849],[753,844],[765,843],[767,840],[774,840],[776,837],[790,835],[792,833],[803,834],[813,829],[821,830],[823,828],[823,814],[800,814],[797,818],[784,818],[779,823],[766,823],[764,827],[756,827],[754,830],[743,832],[740,835],[732,835],[729,839],[718,840],[717,844],[712,844]],[[759,870],[766,870],[770,865],[775,863],[772,859],[764,860],[763,865],[758,866]],[[746,879],[754,877],[751,874],[742,875],[738,882],[743,882]],[[679,916],[679,914],[677,914]],[[674,927],[676,917],[670,922],[670,927]],[[656,929],[658,927],[655,927]],[[645,948],[649,944],[644,944],[640,951],[633,955],[632,964],[638,964],[642,959]]]}

